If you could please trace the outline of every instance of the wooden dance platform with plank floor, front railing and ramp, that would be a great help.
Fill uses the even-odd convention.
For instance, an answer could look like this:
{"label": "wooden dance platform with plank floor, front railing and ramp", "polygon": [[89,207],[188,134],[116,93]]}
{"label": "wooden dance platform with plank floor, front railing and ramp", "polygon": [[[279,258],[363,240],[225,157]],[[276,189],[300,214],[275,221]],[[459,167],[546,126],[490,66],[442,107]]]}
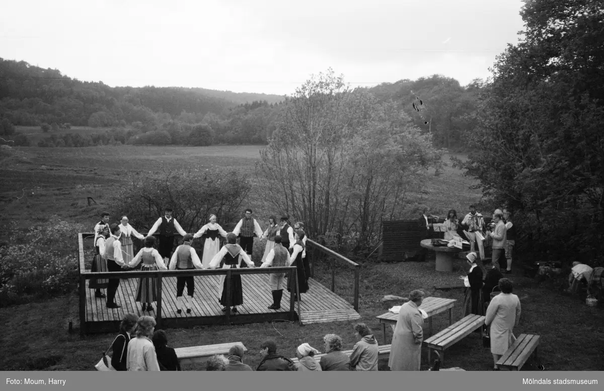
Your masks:
{"label": "wooden dance platform with plank floor, front railing and ramp", "polygon": [[[241,275],[243,304],[237,306],[237,314],[230,313],[228,317],[222,311],[222,305],[219,303],[219,294],[222,291],[222,287],[219,287],[219,279],[221,274],[226,273],[224,269],[197,270],[186,273],[196,273],[194,275],[195,291],[190,314],[187,314],[184,305],[182,312],[180,314],[176,313],[176,275],[182,274],[182,272],[154,272],[154,275],[155,273],[160,273],[156,274],[157,276],[161,275],[161,316],[158,316],[157,302],[152,304],[154,311],[143,312],[141,311],[142,303],[136,302],[135,299],[139,276],[141,276],[141,273],[149,272],[91,273],[89,267],[86,267],[89,262],[85,262],[83,259],[82,236],[80,234],[80,332],[83,334],[118,331],[121,319],[127,313],[137,314],[138,316],[153,316],[158,320],[158,323],[161,322],[158,324],[161,328],[263,323],[272,320],[299,320],[303,324],[310,324],[360,318],[355,310],[358,305],[357,300],[355,300],[354,305],[350,304],[332,291],[333,281],[332,290],[330,290],[312,278],[308,282],[309,291],[301,294],[302,300],[299,307],[298,302],[294,304],[293,308],[291,307],[290,294],[285,289],[283,290],[280,310],[269,310],[267,307],[272,304],[269,284],[271,268],[239,269],[242,272],[248,270],[248,272],[243,272]],[[320,246],[320,244],[316,244],[316,246]],[[308,255],[310,256],[311,253],[309,252]],[[353,263],[352,261],[349,262]],[[120,286],[115,295],[115,301],[121,305],[120,308],[107,308],[106,298],[95,297],[94,290],[88,288],[91,278],[107,278],[109,275],[121,277]],[[127,278],[124,278],[126,276]],[[358,272],[355,273],[355,280],[358,281]],[[356,288],[358,282],[356,281],[355,294],[358,296],[358,288]],[[106,290],[103,290],[103,292],[106,293]],[[186,288],[184,294],[187,294]]]}

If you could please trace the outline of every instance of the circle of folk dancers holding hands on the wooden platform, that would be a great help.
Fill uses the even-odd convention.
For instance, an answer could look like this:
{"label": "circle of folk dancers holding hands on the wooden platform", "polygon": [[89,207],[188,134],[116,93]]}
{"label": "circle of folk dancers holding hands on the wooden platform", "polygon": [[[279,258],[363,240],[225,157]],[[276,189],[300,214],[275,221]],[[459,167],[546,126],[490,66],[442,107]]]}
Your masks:
{"label": "circle of folk dancers holding hands on the wooden platform", "polygon": [[[236,269],[256,267],[252,261],[254,238],[266,239],[265,251],[260,261],[261,268],[286,267],[295,265],[297,268],[297,283],[300,293],[309,290],[308,278],[310,265],[306,259],[306,234],[304,224],[297,222],[292,227],[289,217],[283,216],[280,221],[271,216],[268,227],[263,232],[258,221],[252,216],[252,209],[246,209],[245,214],[237,223],[233,232],[227,233],[217,223],[216,215],[210,216],[210,221],[201,227],[195,234],[188,234],[181,225],[172,217],[172,209],[165,208],[164,215],[155,221],[146,236],[137,232],[129,224],[127,216],[121,218],[119,224],[109,224],[111,215],[101,213],[101,221],[94,227],[95,256],[92,262],[92,272],[123,272],[132,270],[141,265],[141,271],[155,270],[204,270],[217,269],[222,264],[222,269]],[[153,236],[157,234],[157,240]],[[174,249],[177,235],[182,237],[182,244]],[[143,247],[134,254],[132,237],[143,241]],[[225,240],[220,247],[220,239]],[[239,244],[237,244],[239,238]],[[202,240],[204,249],[202,258],[197,255],[191,246],[193,240]],[[294,282],[288,279],[287,273],[271,273],[269,284],[273,302],[269,310],[281,308],[283,290],[287,289],[294,300],[301,300],[296,296]],[[230,300],[226,291],[226,275],[220,275],[217,290],[222,311],[227,311],[226,305],[233,307],[231,313],[237,314],[237,306],[243,304],[243,285],[240,275],[231,275]],[[120,285],[120,278],[91,279],[88,287],[95,290],[94,296],[98,299],[106,298],[107,308],[120,308],[115,301],[115,294]],[[184,289],[187,287],[187,295]],[[102,290],[106,290],[106,294]],[[193,276],[176,277],[176,312],[182,313],[184,307],[187,313],[193,308],[195,281]],[[158,288],[154,277],[141,277],[138,281],[136,301],[141,303],[143,311],[153,311],[153,302],[157,301]]]}

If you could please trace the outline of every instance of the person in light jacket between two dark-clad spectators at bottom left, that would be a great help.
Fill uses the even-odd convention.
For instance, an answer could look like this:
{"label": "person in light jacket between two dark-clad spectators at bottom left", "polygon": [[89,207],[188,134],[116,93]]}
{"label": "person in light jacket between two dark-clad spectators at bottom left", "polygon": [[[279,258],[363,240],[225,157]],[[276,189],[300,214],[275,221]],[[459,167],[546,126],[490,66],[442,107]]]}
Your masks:
{"label": "person in light jacket between two dark-clad spectators at bottom left", "polygon": [[128,342],[127,369],[128,370],[159,370],[157,354],[153,345],[153,330],[155,319],[150,316],[138,318],[135,329],[136,338]]}

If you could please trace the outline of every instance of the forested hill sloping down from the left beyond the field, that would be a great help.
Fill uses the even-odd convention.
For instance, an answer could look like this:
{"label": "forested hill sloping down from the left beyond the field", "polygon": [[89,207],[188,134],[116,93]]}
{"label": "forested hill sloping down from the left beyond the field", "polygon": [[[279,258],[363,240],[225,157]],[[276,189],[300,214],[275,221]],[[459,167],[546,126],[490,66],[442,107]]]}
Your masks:
{"label": "forested hill sloping down from the left beyond the field", "polygon": [[0,58],[0,117],[14,125],[42,122],[78,126],[150,124],[170,115],[203,118],[252,101],[278,103],[279,95],[181,87],[109,87],[79,81],[56,69]]}

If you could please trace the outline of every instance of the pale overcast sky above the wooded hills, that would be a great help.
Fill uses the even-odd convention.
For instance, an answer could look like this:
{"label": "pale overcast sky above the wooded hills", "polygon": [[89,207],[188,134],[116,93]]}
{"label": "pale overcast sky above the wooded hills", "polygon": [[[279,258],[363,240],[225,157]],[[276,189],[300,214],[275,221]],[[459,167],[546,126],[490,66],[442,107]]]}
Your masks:
{"label": "pale overcast sky above the wooded hills", "polygon": [[0,57],[109,86],[293,94],[332,67],[352,86],[489,76],[521,0],[0,0]]}

